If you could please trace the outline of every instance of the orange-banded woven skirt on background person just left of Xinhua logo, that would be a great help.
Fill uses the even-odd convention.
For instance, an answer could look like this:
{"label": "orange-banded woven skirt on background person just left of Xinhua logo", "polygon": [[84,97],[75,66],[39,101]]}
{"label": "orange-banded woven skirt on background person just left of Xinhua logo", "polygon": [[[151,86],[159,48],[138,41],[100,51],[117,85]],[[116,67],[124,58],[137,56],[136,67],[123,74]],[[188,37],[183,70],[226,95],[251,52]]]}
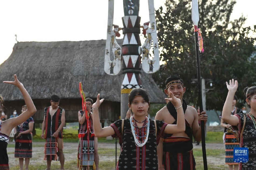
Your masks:
{"label": "orange-banded woven skirt on background person just left of Xinhua logo", "polygon": [[225,135],[225,151],[226,151],[226,157],[225,157],[225,163],[228,165],[238,165],[238,163],[233,161],[233,151],[234,148],[239,147],[239,143],[237,142],[236,137],[233,135],[233,133],[226,133]]}

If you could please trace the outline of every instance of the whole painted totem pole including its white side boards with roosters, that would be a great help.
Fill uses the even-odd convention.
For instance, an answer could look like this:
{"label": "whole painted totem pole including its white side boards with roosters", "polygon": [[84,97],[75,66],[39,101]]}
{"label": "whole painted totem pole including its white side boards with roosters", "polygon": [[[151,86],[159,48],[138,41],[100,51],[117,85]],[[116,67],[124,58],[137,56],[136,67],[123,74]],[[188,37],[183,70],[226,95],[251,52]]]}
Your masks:
{"label": "whole painted totem pole including its white side boards with roosters", "polygon": [[[121,119],[123,119],[128,110],[128,94],[133,88],[142,88],[140,77],[141,61],[142,69],[146,73],[154,73],[160,68],[154,0],[148,0],[150,21],[144,23],[143,26],[140,26],[140,0],[123,0],[123,28],[119,28],[119,26],[113,24],[114,0],[109,0],[108,3],[104,70],[109,75],[117,75],[121,71],[122,65],[124,76],[121,86]],[[143,34],[147,36],[142,47],[140,42],[141,28],[143,28]],[[116,42],[116,36],[120,36],[119,30],[123,30],[124,34],[122,48]],[[151,47],[153,47],[154,56],[151,55]]]}

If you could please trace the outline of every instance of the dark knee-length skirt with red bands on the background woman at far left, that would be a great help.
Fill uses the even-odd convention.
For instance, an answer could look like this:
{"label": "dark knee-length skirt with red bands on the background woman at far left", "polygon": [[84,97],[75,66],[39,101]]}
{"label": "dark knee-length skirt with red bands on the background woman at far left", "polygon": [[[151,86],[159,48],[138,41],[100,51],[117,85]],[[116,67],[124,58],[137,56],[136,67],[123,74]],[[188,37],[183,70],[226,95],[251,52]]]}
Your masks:
{"label": "dark knee-length skirt with red bands on the background woman at far left", "polygon": [[15,141],[15,158],[32,158],[32,138],[31,134],[22,134]]}

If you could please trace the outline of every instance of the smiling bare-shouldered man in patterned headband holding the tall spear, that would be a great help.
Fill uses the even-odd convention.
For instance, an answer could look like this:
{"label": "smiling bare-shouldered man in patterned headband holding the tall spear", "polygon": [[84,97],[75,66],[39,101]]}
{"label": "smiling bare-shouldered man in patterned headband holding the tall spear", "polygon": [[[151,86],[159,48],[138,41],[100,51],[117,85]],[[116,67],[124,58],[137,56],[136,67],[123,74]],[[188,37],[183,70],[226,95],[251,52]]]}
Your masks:
{"label": "smiling bare-shouldered man in patterned headband holding the tall spear", "polygon": [[[192,136],[196,141],[201,141],[201,128],[198,120],[207,121],[205,111],[198,113],[195,108],[188,106],[182,98],[186,91],[183,80],[177,76],[171,76],[165,80],[165,94],[171,91],[179,98],[185,113],[186,130],[177,134],[165,134],[157,146],[159,170],[195,170],[196,162],[193,156]],[[155,116],[156,120],[163,120],[168,124],[177,123],[177,112],[171,102],[168,102]]]}

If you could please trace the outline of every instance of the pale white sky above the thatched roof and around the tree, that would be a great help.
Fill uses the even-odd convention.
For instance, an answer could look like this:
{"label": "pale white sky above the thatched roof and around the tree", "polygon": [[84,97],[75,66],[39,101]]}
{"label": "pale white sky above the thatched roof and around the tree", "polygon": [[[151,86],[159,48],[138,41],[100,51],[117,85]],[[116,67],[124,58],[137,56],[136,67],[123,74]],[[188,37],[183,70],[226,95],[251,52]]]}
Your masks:
{"label": "pale white sky above the thatched roof and around the tree", "polygon": [[[155,0],[155,9],[164,2]],[[256,24],[255,6],[256,0],[237,0],[231,20],[243,14],[247,16],[245,26]],[[113,24],[123,27],[123,16],[123,1],[116,0]],[[139,16],[141,25],[149,21],[147,0],[140,0]],[[15,34],[20,42],[100,40],[106,39],[107,20],[108,0],[1,1],[0,63],[11,55],[17,42]],[[120,33],[122,35],[122,31]]]}

